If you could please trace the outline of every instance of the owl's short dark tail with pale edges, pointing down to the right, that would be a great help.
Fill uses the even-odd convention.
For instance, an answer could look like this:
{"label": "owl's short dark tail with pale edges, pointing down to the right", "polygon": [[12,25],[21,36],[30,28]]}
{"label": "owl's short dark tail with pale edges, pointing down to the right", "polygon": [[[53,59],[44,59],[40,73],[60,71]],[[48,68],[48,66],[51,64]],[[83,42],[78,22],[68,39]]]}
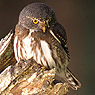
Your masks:
{"label": "owl's short dark tail with pale edges, pointing down to the right", "polygon": [[69,84],[69,86],[77,90],[78,88],[81,87],[81,83],[74,77],[72,72],[69,70],[69,68],[66,69],[66,76],[65,76],[65,81]]}

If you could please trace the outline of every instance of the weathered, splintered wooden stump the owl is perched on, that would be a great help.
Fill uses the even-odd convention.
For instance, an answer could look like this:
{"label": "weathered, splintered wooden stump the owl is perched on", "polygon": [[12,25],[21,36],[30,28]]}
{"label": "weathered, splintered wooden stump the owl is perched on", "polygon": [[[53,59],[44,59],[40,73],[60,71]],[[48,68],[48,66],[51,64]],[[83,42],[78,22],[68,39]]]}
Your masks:
{"label": "weathered, splintered wooden stump the owl is perched on", "polygon": [[55,69],[43,69],[33,59],[16,63],[12,32],[0,41],[0,72],[0,95],[67,95],[69,92],[68,84],[54,83]]}

